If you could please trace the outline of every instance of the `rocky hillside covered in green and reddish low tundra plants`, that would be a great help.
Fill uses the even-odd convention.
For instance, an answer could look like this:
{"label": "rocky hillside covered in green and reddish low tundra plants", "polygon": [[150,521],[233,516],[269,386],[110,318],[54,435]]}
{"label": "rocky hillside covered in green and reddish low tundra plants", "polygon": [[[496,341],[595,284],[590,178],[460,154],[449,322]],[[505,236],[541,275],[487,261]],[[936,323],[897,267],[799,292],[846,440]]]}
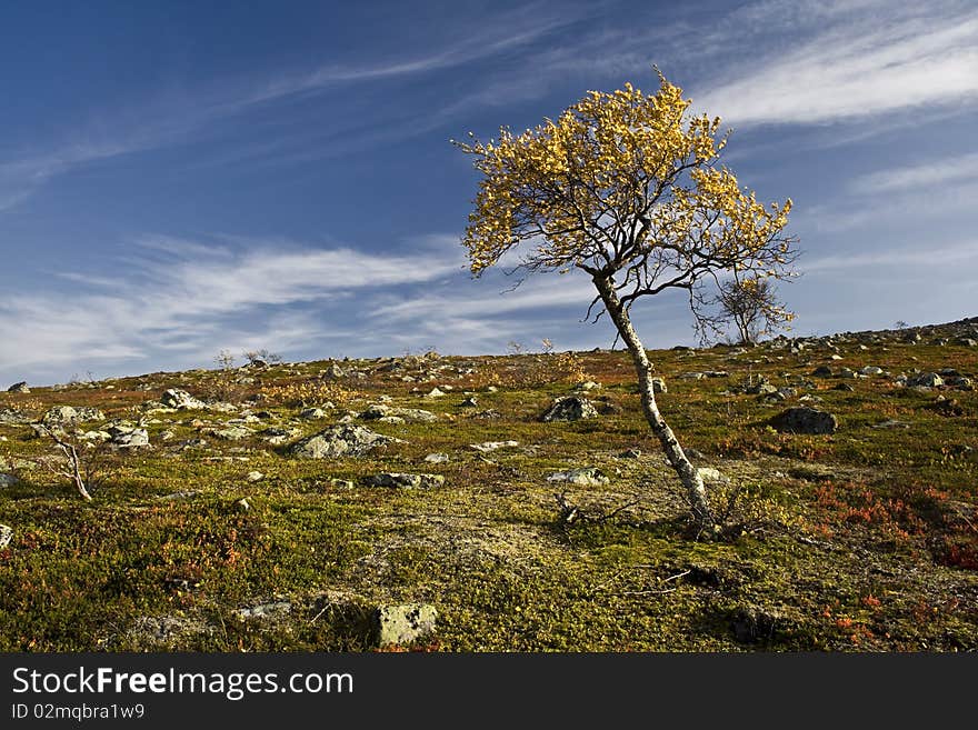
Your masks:
{"label": "rocky hillside covered in green and reddish low tundra plants", "polygon": [[650,354],[717,539],[621,351],[17,383],[0,650],[978,648],[978,318]]}

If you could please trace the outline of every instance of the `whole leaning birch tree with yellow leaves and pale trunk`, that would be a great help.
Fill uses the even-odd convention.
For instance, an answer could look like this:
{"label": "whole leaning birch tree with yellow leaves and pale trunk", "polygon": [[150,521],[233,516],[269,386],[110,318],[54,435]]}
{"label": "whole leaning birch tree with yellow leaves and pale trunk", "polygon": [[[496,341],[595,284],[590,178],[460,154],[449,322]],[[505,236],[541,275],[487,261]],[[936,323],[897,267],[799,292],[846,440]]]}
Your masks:
{"label": "whole leaning birch tree with yellow leaves and pale trunk", "polygon": [[[455,142],[481,173],[465,244],[478,276],[522,244],[529,272],[587,273],[631,353],[642,411],[679,476],[692,516],[712,529],[703,482],[656,404],[652,364],[631,323],[642,297],[688,293],[698,322],[705,287],[725,277],[784,278],[794,239],[784,234],[791,201],[769,207],[718,164],[719,118],[688,114],[682,90],[659,73],[659,90],[626,84],[590,91],[556,121],[499,139]],[[598,307],[597,310],[593,308]]]}

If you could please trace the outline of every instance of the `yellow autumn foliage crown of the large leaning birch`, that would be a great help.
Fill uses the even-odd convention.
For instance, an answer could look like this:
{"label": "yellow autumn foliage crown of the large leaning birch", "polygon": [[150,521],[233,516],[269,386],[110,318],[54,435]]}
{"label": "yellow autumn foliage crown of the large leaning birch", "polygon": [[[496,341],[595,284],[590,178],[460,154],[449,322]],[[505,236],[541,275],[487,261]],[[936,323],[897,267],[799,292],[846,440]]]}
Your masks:
{"label": "yellow autumn foliage crown of the large leaning birch", "polygon": [[590,91],[518,136],[455,142],[481,173],[465,239],[473,273],[521,241],[535,247],[528,261],[555,269],[656,246],[736,258],[770,243],[791,201],[765,208],[713,169],[720,120],[689,118],[682,90],[659,81],[655,94]]}

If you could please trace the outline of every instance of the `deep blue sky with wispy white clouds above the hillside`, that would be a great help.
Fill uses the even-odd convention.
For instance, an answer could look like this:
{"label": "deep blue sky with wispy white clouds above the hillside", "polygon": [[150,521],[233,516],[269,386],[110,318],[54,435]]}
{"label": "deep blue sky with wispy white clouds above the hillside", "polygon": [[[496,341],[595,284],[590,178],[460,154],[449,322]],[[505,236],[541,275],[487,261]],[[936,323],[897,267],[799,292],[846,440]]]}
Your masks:
{"label": "deep blue sky with wispy white clouds above the hillside", "polygon": [[[974,0],[39,1],[0,22],[0,387],[608,347],[586,280],[469,278],[449,139],[652,91],[652,63],[795,200],[795,333],[978,314]],[[695,343],[681,297],[633,316]]]}

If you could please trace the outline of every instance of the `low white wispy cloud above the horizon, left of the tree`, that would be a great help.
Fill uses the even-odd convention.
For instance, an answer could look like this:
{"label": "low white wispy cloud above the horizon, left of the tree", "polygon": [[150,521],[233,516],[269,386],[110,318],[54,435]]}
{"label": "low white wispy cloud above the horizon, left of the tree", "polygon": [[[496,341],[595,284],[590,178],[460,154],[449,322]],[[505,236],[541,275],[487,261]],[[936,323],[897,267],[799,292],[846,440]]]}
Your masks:
{"label": "low white wispy cloud above the horizon, left of the tree", "polygon": [[153,237],[134,251],[119,278],[69,272],[71,290],[0,302],[0,373],[92,362],[118,368],[166,352],[189,367],[219,347],[356,340],[360,298],[461,271],[460,259],[433,242],[391,256],[281,240],[231,246]]}

